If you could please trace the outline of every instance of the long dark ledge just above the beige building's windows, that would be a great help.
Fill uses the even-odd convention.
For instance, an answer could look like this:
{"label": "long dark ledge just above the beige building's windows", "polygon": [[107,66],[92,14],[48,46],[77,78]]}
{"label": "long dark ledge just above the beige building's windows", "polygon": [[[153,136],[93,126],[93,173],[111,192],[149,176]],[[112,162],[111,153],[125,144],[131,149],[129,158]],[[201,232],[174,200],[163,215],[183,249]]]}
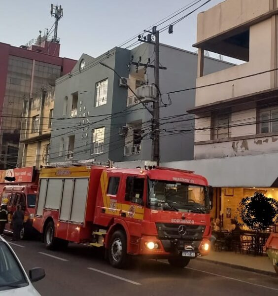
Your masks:
{"label": "long dark ledge just above the beige building's windows", "polygon": [[278,97],[278,87],[263,90],[260,92],[251,93],[244,96],[231,98],[231,99],[217,101],[214,103],[200,105],[198,107],[194,107],[192,109],[187,110],[187,112],[198,115],[206,112],[212,112],[212,111],[215,111],[216,109],[226,109],[226,108],[229,108],[229,107],[232,108],[235,106],[238,107],[239,105],[254,103],[254,102],[263,101],[266,99],[273,99],[277,97]]}

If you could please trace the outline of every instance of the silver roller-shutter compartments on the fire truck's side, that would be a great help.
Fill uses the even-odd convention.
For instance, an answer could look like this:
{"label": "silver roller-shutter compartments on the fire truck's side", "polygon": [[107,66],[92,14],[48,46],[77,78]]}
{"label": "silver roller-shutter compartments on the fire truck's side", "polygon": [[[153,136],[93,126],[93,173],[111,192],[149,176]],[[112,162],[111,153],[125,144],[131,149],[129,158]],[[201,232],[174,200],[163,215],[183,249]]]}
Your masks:
{"label": "silver roller-shutter compartments on the fire truck's side", "polygon": [[59,220],[84,222],[88,184],[88,178],[41,179],[36,214],[60,210]]}

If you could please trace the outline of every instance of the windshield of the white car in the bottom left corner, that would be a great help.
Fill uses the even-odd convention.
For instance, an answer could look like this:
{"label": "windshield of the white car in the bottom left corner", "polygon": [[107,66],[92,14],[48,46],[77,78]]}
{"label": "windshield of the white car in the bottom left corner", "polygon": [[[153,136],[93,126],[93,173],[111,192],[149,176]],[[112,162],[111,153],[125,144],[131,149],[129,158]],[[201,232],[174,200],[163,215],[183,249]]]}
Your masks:
{"label": "windshield of the white car in the bottom left corner", "polygon": [[28,286],[18,261],[4,242],[0,242],[0,291]]}

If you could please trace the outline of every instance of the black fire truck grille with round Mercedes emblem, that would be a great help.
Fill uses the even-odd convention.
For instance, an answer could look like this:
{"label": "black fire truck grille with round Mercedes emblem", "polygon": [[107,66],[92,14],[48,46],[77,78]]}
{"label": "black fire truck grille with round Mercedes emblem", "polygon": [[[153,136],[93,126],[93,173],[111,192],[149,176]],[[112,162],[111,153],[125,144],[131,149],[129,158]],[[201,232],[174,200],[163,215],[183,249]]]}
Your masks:
{"label": "black fire truck grille with round Mercedes emblem", "polygon": [[159,239],[202,240],[205,226],[173,223],[156,223]]}

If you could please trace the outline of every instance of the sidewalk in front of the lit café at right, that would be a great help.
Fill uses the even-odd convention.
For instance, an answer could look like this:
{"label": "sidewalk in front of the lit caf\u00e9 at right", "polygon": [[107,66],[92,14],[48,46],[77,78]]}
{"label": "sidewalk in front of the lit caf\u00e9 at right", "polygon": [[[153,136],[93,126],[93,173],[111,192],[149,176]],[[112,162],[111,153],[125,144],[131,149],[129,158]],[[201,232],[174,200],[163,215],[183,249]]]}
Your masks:
{"label": "sidewalk in front of the lit caf\u00e9 at right", "polygon": [[210,251],[208,256],[198,257],[199,260],[211,261],[216,264],[277,276],[268,257],[235,254],[235,252]]}

